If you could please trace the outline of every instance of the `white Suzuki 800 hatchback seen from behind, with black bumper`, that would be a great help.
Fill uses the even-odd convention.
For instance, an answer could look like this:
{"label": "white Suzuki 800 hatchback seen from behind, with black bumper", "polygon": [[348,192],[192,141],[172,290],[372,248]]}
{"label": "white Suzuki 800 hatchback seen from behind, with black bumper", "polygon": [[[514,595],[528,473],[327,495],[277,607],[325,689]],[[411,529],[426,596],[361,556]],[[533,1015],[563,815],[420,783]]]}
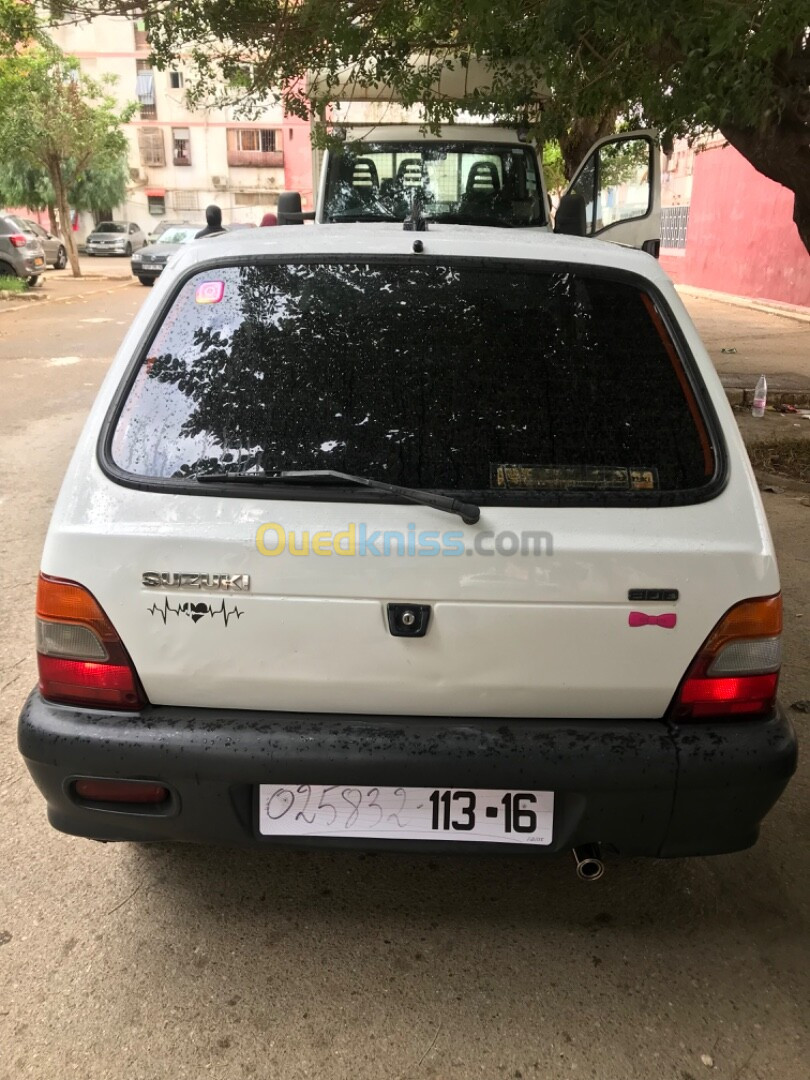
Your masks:
{"label": "white Suzuki 800 hatchback seen from behind, with black bumper", "polygon": [[100,840],[692,855],[796,764],[744,446],[653,258],[180,248],[48,535],[19,747]]}

